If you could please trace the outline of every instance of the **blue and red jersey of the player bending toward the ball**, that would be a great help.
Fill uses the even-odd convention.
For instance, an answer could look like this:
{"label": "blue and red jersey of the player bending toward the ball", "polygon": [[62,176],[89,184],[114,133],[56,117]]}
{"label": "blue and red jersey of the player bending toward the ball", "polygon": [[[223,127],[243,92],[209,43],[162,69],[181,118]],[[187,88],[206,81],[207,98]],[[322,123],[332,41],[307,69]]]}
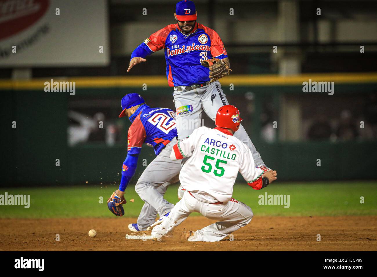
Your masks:
{"label": "blue and red jersey of the player bending toward the ball", "polygon": [[127,154],[139,154],[145,143],[158,155],[177,136],[175,112],[143,105],[135,113],[138,114],[128,129]]}

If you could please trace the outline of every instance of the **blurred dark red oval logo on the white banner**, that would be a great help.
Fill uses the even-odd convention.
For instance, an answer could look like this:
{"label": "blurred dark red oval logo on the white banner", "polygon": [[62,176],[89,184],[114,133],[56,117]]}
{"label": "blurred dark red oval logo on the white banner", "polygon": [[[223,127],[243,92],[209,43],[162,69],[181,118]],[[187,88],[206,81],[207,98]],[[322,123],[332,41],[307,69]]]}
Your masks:
{"label": "blurred dark red oval logo on the white banner", "polygon": [[46,13],[49,0],[0,0],[0,40],[31,27]]}

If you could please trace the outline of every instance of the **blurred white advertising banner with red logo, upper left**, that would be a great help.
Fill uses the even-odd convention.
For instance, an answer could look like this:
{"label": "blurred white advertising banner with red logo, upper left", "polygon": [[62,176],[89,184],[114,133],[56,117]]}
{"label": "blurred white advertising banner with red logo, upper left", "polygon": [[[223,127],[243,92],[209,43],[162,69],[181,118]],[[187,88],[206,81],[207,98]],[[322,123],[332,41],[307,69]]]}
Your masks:
{"label": "blurred white advertising banner with red logo, upper left", "polygon": [[0,0],[0,67],[106,66],[106,0]]}

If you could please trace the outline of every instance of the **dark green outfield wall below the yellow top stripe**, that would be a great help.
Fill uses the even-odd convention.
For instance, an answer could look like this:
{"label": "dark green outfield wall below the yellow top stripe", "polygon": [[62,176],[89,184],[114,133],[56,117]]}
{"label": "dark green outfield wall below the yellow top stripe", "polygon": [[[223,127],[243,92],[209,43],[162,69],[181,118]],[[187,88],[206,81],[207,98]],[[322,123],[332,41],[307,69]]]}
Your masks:
{"label": "dark green outfield wall below the yellow top stripe", "polygon": [[[7,83],[9,84],[9,83]],[[66,185],[95,183],[118,184],[121,165],[127,152],[126,131],[130,123],[125,123],[122,142],[113,146],[92,143],[69,147],[67,145],[67,110],[70,101],[75,99],[116,99],[114,114],[120,112],[121,97],[130,92],[139,92],[150,106],[174,107],[172,89],[167,86],[150,86],[143,91],[139,86],[79,86],[75,95],[68,92],[44,92],[31,86],[7,87],[0,84],[2,94],[2,166],[1,186],[9,185]],[[27,85],[26,85],[27,87]],[[270,95],[279,101],[284,93],[299,93],[300,84],[239,85],[234,91],[228,87],[224,93],[231,103],[242,106],[246,92],[255,95],[258,112],[259,101]],[[375,92],[377,82],[338,84],[340,93]],[[274,101],[275,101],[274,100]],[[156,103],[156,104],[151,104]],[[246,108],[245,108],[246,109]],[[100,108],[98,108],[100,111]],[[265,163],[278,171],[284,181],[376,179],[376,141],[349,142],[310,142],[277,141],[263,142],[259,137],[258,120],[247,114],[242,116],[245,129],[261,153]],[[127,119],[122,119],[126,120]],[[16,128],[12,128],[12,122]],[[106,124],[106,121],[104,122]],[[255,134],[255,135],[253,135]],[[138,168],[132,182],[154,158],[152,148],[143,146]],[[60,165],[56,165],[59,159]],[[317,166],[317,159],[321,165]]]}

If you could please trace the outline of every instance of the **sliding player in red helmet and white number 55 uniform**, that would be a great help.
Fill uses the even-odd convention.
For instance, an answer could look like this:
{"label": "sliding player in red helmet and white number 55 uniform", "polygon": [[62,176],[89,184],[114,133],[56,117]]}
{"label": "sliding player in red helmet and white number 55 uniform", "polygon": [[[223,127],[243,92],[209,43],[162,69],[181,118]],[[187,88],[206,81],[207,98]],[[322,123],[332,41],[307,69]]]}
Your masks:
{"label": "sliding player in red helmet and white number 55 uniform", "polygon": [[183,232],[191,242],[217,242],[250,223],[251,208],[231,198],[237,173],[255,190],[271,184],[277,173],[255,167],[250,149],[233,136],[239,132],[241,120],[236,107],[225,105],[217,112],[215,129],[200,127],[173,146],[173,161],[191,156],[179,176],[186,191],[167,219],[153,228],[153,240],[161,240],[192,212],[219,221],[195,232]]}

